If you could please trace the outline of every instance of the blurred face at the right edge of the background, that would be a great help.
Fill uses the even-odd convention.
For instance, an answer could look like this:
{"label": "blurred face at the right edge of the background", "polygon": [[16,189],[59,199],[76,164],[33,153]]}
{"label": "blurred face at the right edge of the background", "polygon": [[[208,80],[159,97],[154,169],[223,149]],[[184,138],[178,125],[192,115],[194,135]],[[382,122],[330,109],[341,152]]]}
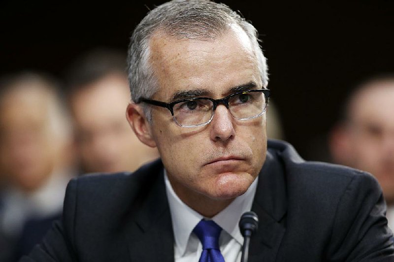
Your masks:
{"label": "blurred face at the right edge of the background", "polygon": [[363,91],[351,108],[351,164],[372,173],[394,201],[394,83]]}

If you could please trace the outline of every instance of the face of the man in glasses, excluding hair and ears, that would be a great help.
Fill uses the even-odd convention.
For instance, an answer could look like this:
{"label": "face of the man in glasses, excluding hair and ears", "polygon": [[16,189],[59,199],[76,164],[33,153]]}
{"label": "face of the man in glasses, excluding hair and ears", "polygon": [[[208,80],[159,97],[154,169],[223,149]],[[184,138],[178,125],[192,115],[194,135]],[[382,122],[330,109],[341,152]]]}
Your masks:
{"label": "face of the man in glasses, excluding hair and ears", "polygon": [[[262,88],[250,40],[238,27],[206,41],[157,34],[150,47],[160,86],[153,99],[169,102],[180,92],[196,90],[217,99],[249,83],[256,85],[251,89]],[[265,160],[265,115],[236,120],[219,105],[208,125],[184,128],[174,123],[169,110],[152,108],[151,135],[183,201],[190,204],[202,196],[232,199],[245,193]]]}

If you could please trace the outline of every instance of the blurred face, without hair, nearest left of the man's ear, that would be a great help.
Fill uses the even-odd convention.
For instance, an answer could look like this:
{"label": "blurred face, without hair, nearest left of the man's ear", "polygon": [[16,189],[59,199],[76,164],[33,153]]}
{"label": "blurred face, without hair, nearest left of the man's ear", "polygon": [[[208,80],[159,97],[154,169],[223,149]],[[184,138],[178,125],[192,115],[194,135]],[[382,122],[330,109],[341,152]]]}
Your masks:
{"label": "blurred face, without hair, nearest left of the man's ear", "polygon": [[109,74],[70,98],[76,146],[84,172],[133,171],[157,158],[126,120],[130,91],[126,76]]}

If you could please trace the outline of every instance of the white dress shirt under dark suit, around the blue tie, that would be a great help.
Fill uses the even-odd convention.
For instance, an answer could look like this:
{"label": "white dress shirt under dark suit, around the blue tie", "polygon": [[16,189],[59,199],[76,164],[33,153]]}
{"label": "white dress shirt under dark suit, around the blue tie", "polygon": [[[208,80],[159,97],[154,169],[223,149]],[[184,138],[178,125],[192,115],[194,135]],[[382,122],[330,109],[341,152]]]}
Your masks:
{"label": "white dress shirt under dark suit, around the blue tie", "polygon": [[[165,188],[174,230],[175,262],[197,262],[201,256],[202,244],[193,229],[204,217],[187,206],[174,192],[164,170]],[[239,262],[242,255],[243,236],[238,222],[241,215],[250,211],[256,193],[257,180],[245,194],[234,199],[228,207],[211,218],[223,230],[219,237],[220,251],[226,262]]]}

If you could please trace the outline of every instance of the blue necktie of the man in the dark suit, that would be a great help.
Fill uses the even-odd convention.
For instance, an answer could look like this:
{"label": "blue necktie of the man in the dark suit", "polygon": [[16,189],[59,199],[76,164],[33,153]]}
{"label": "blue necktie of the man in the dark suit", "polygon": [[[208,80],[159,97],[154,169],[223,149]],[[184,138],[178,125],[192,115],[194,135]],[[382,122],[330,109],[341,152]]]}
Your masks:
{"label": "blue necktie of the man in the dark suit", "polygon": [[212,220],[201,220],[193,229],[202,243],[199,262],[225,262],[219,249],[219,235],[222,228]]}

